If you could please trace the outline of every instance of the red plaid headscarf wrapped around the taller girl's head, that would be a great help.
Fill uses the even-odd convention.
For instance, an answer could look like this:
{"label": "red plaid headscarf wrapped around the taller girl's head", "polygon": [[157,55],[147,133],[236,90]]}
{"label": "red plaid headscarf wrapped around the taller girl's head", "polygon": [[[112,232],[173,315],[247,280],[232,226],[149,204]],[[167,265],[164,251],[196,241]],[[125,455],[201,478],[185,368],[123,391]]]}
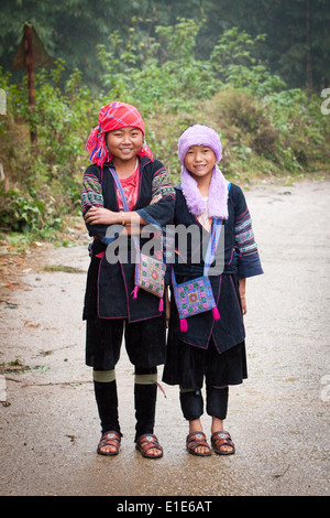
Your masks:
{"label": "red plaid headscarf wrapped around the taller girl's head", "polygon": [[[90,153],[90,160],[95,164],[101,168],[105,162],[109,162],[112,159],[106,145],[106,133],[125,127],[138,128],[144,134],[142,117],[134,106],[114,101],[100,109],[99,126],[91,131],[86,143],[86,148]],[[153,160],[153,153],[146,145],[143,145],[138,154]]]}

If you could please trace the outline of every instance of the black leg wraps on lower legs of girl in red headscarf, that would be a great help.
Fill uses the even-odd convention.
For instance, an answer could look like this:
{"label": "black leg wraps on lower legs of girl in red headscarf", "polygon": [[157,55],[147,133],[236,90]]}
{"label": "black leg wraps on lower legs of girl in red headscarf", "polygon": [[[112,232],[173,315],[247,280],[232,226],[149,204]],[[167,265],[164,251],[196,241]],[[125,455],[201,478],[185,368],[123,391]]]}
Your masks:
{"label": "black leg wraps on lower legs of girl in red headscarf", "polygon": [[[135,375],[156,374],[157,367],[135,367]],[[117,382],[94,381],[95,396],[101,422],[102,434],[117,431],[121,434],[118,414]],[[135,441],[144,433],[153,433],[156,412],[157,385],[134,384]]]}

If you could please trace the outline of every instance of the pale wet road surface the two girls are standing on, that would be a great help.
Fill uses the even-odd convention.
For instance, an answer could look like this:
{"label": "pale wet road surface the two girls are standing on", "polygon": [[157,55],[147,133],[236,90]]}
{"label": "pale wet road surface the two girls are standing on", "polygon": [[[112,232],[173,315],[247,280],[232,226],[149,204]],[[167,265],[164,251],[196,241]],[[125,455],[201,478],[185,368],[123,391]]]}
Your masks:
{"label": "pale wet road surface the two girls are standing on", "polygon": [[[11,273],[0,292],[0,399],[7,401],[0,404],[0,495],[329,495],[329,187],[305,181],[245,190],[265,274],[248,281],[249,379],[230,391],[226,425],[237,454],[229,457],[186,452],[177,388],[164,384],[155,430],[164,457],[135,452],[133,368],[124,348],[121,452],[97,455],[81,321],[86,244],[36,246],[37,257],[20,268],[2,253]],[[76,270],[45,271],[45,265]],[[209,430],[207,416],[204,425]]]}

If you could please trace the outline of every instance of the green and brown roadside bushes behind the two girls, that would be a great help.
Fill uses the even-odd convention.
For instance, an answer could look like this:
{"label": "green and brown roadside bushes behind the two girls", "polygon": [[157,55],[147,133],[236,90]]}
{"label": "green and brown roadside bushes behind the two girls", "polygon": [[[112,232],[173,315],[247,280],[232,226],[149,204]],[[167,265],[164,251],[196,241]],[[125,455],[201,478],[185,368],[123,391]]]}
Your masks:
{"label": "green and brown roadside bushes behind the two girls", "polygon": [[[329,174],[329,117],[320,95],[289,88],[262,60],[265,35],[237,28],[220,35],[201,60],[196,55],[204,22],[179,19],[157,26],[156,37],[124,41],[112,33],[98,45],[102,88],[90,89],[66,63],[35,73],[36,109],[28,102],[26,77],[13,82],[0,69],[7,115],[0,116],[0,233],[11,245],[52,241],[80,217],[80,184],[89,164],[86,140],[111,100],[135,105],[146,141],[179,179],[177,140],[189,125],[213,127],[221,136],[224,175],[240,184],[284,182]],[[34,145],[30,130],[37,133]],[[67,236],[69,242],[69,236]],[[66,244],[66,240],[62,240]]]}

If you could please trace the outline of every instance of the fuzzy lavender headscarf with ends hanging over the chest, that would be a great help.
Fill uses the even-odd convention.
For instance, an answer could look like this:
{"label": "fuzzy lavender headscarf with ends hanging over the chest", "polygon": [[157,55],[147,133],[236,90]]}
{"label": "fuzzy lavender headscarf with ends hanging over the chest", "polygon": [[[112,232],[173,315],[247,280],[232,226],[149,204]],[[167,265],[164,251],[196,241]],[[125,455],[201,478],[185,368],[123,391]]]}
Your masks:
{"label": "fuzzy lavender headscarf with ends hanging over the chest", "polygon": [[178,141],[178,155],[182,162],[182,187],[188,208],[195,216],[199,216],[208,208],[209,217],[227,219],[228,181],[224,179],[216,163],[211,177],[207,207],[207,204],[199,192],[196,180],[185,166],[185,157],[191,145],[207,145],[208,148],[211,148],[217,162],[219,162],[222,157],[220,138],[212,128],[204,125],[194,125],[187,128],[180,136]]}

